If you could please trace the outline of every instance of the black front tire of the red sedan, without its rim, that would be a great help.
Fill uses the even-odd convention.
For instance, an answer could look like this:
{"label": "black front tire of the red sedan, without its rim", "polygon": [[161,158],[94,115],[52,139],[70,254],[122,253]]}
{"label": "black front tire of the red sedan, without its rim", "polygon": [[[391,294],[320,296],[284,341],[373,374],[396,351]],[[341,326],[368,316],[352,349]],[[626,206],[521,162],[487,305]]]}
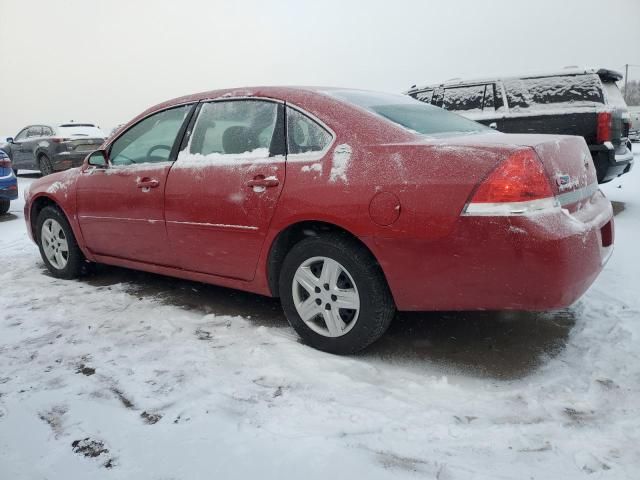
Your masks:
{"label": "black front tire of the red sedan, without its rim", "polygon": [[[48,219],[55,220],[62,227],[64,237],[67,241],[68,255],[67,262],[64,268],[57,268],[55,265],[53,265],[44,252],[42,241],[42,226]],[[73,234],[73,230],[71,230],[71,226],[69,225],[67,218],[57,207],[48,206],[42,209],[42,211],[38,215],[38,220],[36,221],[36,231],[34,232],[34,235],[38,242],[38,248],[40,249],[42,260],[47,266],[49,272],[51,272],[51,275],[56,278],[64,278],[69,280],[72,278],[77,278],[87,271],[87,261],[84,258],[82,251],[78,247],[78,243],[76,242],[76,237]]]}

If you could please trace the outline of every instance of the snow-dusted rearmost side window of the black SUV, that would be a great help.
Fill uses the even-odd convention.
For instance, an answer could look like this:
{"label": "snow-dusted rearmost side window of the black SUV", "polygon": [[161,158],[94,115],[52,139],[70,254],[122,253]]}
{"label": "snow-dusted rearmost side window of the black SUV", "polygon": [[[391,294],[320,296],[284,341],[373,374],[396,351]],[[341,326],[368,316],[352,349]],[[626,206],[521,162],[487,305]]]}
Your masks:
{"label": "snow-dusted rearmost side window of the black SUV", "polygon": [[504,85],[510,108],[604,102],[596,74],[507,79]]}

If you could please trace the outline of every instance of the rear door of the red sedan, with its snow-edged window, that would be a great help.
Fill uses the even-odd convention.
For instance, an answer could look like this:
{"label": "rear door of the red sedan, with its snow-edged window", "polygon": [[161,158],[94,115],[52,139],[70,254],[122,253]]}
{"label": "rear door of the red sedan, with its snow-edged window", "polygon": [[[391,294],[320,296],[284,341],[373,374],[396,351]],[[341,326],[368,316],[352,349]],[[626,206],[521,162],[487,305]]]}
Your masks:
{"label": "rear door of the red sedan, with its snow-edged window", "polygon": [[251,280],[285,176],[284,106],[201,104],[165,191],[169,243],[182,268]]}

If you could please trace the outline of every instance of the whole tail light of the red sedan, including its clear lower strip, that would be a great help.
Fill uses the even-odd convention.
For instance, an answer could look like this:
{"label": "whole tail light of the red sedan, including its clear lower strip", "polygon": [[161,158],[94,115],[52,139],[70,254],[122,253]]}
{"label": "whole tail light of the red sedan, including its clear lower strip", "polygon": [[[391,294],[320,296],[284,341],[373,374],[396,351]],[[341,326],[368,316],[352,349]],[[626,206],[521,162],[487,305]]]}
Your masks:
{"label": "whole tail light of the red sedan, including its clear lower strip", "polygon": [[478,186],[467,215],[520,215],[556,206],[551,184],[532,149],[519,150]]}

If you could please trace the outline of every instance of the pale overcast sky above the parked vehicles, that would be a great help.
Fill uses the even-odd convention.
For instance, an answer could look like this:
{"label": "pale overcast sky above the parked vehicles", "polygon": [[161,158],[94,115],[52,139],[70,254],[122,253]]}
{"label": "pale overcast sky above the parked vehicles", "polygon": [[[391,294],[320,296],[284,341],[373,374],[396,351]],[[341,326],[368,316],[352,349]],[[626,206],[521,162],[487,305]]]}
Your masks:
{"label": "pale overcast sky above the parked vehicles", "polygon": [[[640,0],[0,0],[0,135],[225,87],[640,64]],[[640,79],[640,68],[630,71]]]}

